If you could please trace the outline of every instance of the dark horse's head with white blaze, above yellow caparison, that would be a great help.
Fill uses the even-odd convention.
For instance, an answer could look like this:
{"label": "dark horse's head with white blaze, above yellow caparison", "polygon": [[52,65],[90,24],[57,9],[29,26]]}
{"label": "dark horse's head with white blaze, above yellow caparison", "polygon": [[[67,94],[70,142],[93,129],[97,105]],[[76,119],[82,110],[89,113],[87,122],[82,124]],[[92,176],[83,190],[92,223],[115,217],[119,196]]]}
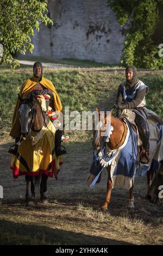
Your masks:
{"label": "dark horse's head with white blaze, above yellow caparison", "polygon": [[34,97],[32,93],[29,93],[24,99],[18,94],[18,99],[20,100],[20,123],[21,123],[21,135],[26,137],[32,127],[36,108],[34,107]]}

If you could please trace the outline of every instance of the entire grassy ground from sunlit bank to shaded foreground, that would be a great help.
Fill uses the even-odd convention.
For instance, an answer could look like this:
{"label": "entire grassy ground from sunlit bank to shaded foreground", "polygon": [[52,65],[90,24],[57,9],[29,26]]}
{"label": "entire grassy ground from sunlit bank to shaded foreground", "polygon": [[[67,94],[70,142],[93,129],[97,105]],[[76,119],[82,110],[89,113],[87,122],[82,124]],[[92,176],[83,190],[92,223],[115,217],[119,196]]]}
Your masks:
{"label": "entire grassy ground from sunlit bank to shaded foreground", "polygon": [[[70,110],[94,110],[96,106],[111,109],[118,84],[124,79],[122,69],[45,69],[45,77],[58,90],[64,106]],[[86,186],[92,162],[91,132],[69,132],[58,181],[48,179],[49,203],[41,205],[39,188],[34,206],[25,208],[26,182],[21,176],[12,179],[7,153],[11,117],[21,84],[32,76],[32,70],[21,68],[0,72],[0,185],[4,188],[0,206],[1,245],[159,245],[163,244],[162,206],[149,203],[144,195],[146,180],[135,180],[135,212],[127,211],[129,192],[112,191],[109,212],[100,206],[106,192],[106,172],[93,190]],[[163,71],[140,70],[138,77],[149,86],[147,107],[163,117]],[[68,133],[68,132],[67,132]]]}

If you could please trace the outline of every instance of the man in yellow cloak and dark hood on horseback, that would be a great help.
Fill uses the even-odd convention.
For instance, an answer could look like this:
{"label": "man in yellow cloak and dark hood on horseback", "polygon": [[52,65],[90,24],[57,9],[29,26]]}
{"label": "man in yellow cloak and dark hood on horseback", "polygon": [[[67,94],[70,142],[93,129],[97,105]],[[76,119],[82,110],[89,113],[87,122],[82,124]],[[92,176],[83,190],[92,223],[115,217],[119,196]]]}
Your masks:
{"label": "man in yellow cloak and dark hood on horseback", "polygon": [[[49,94],[51,96],[49,106],[53,109],[55,112],[61,112],[62,111],[62,105],[59,98],[59,95],[57,91],[55,90],[55,87],[53,83],[49,80],[47,80],[45,77],[42,76],[42,64],[40,62],[35,62],[33,65],[33,77],[29,78],[25,83],[23,83],[20,95],[24,98],[27,93],[31,92],[32,90],[45,90],[46,94]],[[21,124],[20,124],[20,114],[18,113],[18,109],[20,108],[20,100],[17,99],[14,115],[12,118],[12,128],[10,131],[10,136],[15,138],[15,143],[20,139],[21,137]],[[55,134],[55,154],[57,156],[66,154],[66,150],[64,147],[61,146],[61,131],[57,130]],[[15,144],[15,149],[11,150],[12,152],[9,152],[11,154],[17,153],[17,145]]]}

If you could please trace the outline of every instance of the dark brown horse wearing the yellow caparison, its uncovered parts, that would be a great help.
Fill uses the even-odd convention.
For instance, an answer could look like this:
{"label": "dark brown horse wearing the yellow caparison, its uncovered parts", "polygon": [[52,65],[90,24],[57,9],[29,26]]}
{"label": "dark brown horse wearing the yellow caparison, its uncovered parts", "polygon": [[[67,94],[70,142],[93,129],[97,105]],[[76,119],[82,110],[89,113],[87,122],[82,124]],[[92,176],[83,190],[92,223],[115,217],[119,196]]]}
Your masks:
{"label": "dark brown horse wearing the yellow caparison, its uncovered parts", "polygon": [[[39,132],[43,126],[47,126],[49,118],[42,111],[39,101],[36,99],[34,92],[29,93],[24,99],[20,95],[19,100],[21,102],[20,124],[21,135],[24,139],[29,135],[31,131]],[[26,205],[33,204],[32,197],[35,197],[35,184],[39,184],[40,181],[40,196],[43,203],[47,202],[45,196],[47,191],[47,179],[48,176],[45,173],[33,177],[32,175],[26,175]]]}

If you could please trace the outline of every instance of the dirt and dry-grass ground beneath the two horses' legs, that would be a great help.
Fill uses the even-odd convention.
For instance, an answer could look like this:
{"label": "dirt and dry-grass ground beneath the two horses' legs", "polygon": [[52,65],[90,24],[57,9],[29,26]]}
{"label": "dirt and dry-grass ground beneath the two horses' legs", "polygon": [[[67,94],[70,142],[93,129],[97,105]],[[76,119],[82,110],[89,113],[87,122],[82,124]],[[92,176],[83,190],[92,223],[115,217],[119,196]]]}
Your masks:
{"label": "dirt and dry-grass ground beneath the two horses' legs", "polygon": [[11,144],[0,145],[0,185],[4,188],[4,201],[0,206],[1,244],[163,244],[162,206],[153,205],[144,198],[145,179],[135,181],[134,214],[130,215],[127,210],[129,192],[120,188],[112,191],[109,211],[101,212],[106,171],[93,190],[86,186],[92,161],[91,142],[66,144],[68,154],[64,157],[58,181],[48,179],[49,203],[40,204],[37,188],[35,203],[30,209],[24,206],[24,176],[13,179],[9,169],[7,151]]}

